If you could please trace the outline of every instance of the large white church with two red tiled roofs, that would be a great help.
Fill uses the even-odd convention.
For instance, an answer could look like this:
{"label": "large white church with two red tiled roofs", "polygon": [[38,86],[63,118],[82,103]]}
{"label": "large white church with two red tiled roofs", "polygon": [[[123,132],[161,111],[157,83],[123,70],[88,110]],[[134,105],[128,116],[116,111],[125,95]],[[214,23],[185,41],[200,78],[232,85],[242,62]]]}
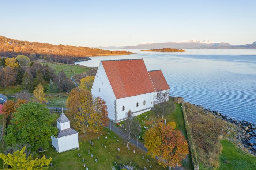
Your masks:
{"label": "large white church with two red tiled roofs", "polygon": [[[91,89],[108,106],[108,117],[120,122],[154,108],[155,95],[168,92],[161,70],[148,71],[143,59],[106,60],[99,67]],[[168,100],[168,99],[167,99]]]}

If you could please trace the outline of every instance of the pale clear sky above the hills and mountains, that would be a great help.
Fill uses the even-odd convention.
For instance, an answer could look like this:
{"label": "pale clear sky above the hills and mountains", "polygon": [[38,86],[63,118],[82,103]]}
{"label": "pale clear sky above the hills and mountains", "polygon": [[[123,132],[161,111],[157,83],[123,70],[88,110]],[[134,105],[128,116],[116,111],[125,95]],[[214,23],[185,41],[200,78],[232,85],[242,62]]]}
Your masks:
{"label": "pale clear sky above the hills and mountains", "polygon": [[0,0],[0,35],[74,46],[256,41],[255,0]]}

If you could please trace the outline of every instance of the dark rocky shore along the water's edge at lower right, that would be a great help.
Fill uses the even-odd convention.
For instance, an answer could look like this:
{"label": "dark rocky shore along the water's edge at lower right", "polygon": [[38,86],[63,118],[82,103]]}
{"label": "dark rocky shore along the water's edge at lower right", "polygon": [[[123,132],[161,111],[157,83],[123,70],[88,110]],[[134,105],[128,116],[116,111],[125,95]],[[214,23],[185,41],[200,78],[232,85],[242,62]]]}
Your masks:
{"label": "dark rocky shore along the water's edge at lower right", "polygon": [[[228,117],[226,115],[223,115],[219,111],[212,111],[211,109],[206,109],[203,106],[197,105],[198,108],[204,109],[204,111],[208,111],[215,115],[216,117],[219,117],[220,119],[232,123],[235,125],[237,132],[237,135],[235,136],[237,141],[241,143],[241,145],[238,144],[240,148],[246,148],[246,151],[248,150],[249,153],[256,155],[256,127],[254,124],[243,121],[243,120],[237,120],[231,117]],[[227,133],[230,133],[227,132]]]}

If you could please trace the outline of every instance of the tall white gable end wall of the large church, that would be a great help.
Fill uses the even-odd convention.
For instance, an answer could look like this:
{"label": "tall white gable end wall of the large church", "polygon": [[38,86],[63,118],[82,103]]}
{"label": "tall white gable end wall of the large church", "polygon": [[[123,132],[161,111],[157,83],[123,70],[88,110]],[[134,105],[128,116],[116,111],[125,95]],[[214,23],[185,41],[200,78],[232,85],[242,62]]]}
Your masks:
{"label": "tall white gable end wall of the large church", "polygon": [[93,82],[93,87],[91,88],[91,93],[94,97],[100,96],[102,99],[104,99],[106,105],[108,106],[108,117],[115,120],[116,97],[101,62],[99,63],[99,67]]}

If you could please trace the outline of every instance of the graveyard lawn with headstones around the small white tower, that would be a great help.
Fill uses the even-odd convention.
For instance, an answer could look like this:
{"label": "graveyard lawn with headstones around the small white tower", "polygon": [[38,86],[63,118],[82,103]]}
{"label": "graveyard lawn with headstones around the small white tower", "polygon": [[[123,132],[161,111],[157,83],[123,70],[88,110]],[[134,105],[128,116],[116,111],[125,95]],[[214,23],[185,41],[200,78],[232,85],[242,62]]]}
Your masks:
{"label": "graveyard lawn with headstones around the small white tower", "polygon": [[[110,134],[108,134],[110,132]],[[102,136],[100,135],[102,134]],[[105,139],[107,136],[107,139]],[[114,139],[116,136],[116,139]],[[99,137],[99,140],[97,140]],[[91,146],[89,143],[91,140],[94,143],[94,146]],[[117,142],[117,140],[119,140]],[[85,164],[89,169],[106,169],[109,170],[113,166],[125,163],[128,165],[129,162],[132,162],[132,165],[137,166],[139,169],[143,169],[144,166],[149,169],[149,166],[152,166],[152,169],[164,170],[162,166],[159,166],[155,159],[150,158],[146,155],[146,152],[142,150],[137,150],[135,146],[130,146],[131,150],[128,150],[123,145],[123,139],[120,138],[113,131],[110,131],[107,128],[104,128],[98,134],[89,133],[89,134],[79,134],[79,150],[71,150],[63,153],[57,153],[52,147],[48,151],[42,152],[39,156],[43,154],[47,158],[52,157],[52,164],[55,166],[50,169],[60,169],[60,170],[70,170],[70,169],[85,169],[83,164]],[[103,144],[104,146],[101,146]],[[106,146],[106,149],[105,149]],[[120,151],[117,151],[117,147],[120,148]],[[90,154],[88,154],[90,150]],[[135,154],[133,153],[135,150]],[[78,157],[78,153],[81,153],[81,158]],[[91,157],[91,154],[94,157]],[[142,160],[142,155],[144,155],[144,160]],[[82,159],[84,158],[84,163]],[[98,159],[98,162],[95,162],[95,159]],[[147,162],[147,159],[150,162]],[[118,166],[116,166],[118,167]],[[117,169],[117,168],[116,168]]]}

